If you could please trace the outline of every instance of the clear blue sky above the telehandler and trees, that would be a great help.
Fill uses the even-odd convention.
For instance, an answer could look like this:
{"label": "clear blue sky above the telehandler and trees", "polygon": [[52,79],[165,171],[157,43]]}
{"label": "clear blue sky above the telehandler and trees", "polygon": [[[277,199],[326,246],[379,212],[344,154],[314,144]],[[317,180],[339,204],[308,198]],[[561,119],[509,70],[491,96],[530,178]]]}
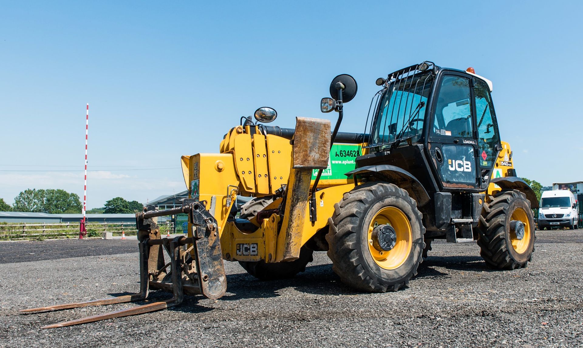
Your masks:
{"label": "clear blue sky above the telehandler and trees", "polygon": [[0,198],[83,195],[86,103],[88,208],[145,203],[258,107],[335,119],[319,99],[339,73],[359,83],[340,131],[363,132],[375,79],[426,59],[493,81],[519,176],[583,180],[581,2],[414,4],[2,1]]}

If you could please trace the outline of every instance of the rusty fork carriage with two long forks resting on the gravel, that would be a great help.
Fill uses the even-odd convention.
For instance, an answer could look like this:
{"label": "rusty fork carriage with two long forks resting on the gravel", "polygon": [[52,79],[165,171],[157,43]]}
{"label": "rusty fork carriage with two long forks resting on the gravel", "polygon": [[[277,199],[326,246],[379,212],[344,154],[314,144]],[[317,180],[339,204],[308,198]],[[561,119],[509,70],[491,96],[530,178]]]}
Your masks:
{"label": "rusty fork carriage with two long forks resting on the gravel", "polygon": [[[222,297],[227,290],[227,280],[224,273],[219,233],[216,220],[205,209],[205,205],[205,201],[198,202],[194,199],[185,199],[180,208],[157,210],[154,206],[148,206],[144,212],[136,214],[140,259],[139,293],[93,301],[30,308],[19,312],[30,314],[93,305],[142,301],[148,297],[150,288],[171,291],[174,295],[172,298],[163,301],[41,327],[50,329],[162,310],[182,303],[185,293],[192,295],[202,294],[212,299]],[[177,213],[188,213],[191,236],[178,236],[173,239],[160,238],[160,230],[155,218]],[[183,250],[181,247],[185,245],[189,247]],[[164,264],[164,255],[161,248],[166,249],[170,256],[170,262],[166,265]],[[191,249],[192,252],[189,252]],[[170,271],[166,272],[168,266]]]}

